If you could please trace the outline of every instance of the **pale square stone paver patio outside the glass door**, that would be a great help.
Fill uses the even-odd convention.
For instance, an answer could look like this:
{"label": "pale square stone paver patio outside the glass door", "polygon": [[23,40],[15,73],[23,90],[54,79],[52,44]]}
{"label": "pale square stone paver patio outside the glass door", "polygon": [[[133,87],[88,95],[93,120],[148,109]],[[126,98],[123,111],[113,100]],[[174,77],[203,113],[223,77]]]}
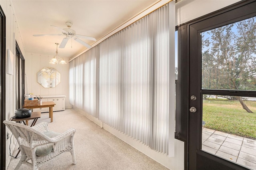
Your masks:
{"label": "pale square stone paver patio outside the glass door", "polygon": [[203,128],[202,150],[256,170],[256,140]]}

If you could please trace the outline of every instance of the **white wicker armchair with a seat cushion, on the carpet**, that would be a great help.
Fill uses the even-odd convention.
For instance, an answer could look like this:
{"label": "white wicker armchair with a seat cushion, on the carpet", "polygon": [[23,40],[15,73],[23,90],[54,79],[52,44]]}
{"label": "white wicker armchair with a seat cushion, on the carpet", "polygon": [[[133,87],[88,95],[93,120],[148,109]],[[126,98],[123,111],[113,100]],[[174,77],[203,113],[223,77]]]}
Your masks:
{"label": "white wicker armchair with a seat cushion, on the carpet", "polygon": [[[71,152],[73,164],[76,164],[74,152],[74,134],[76,130],[70,128],[63,133],[49,131],[46,122],[29,127],[13,121],[4,121],[6,127],[15,136],[20,146],[21,158],[15,170],[22,164],[32,166],[34,170],[56,156]],[[28,162],[31,160],[32,163]]]}

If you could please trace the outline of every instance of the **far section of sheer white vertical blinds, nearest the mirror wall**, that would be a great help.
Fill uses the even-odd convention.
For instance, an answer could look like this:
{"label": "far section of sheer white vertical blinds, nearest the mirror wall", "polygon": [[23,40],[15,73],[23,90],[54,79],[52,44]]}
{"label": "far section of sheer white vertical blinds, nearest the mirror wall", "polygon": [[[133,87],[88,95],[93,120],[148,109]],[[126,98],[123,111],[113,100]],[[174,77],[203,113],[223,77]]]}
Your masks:
{"label": "far section of sheer white vertical blinds, nearest the mirror wall", "polygon": [[70,103],[98,118],[98,45],[70,62]]}

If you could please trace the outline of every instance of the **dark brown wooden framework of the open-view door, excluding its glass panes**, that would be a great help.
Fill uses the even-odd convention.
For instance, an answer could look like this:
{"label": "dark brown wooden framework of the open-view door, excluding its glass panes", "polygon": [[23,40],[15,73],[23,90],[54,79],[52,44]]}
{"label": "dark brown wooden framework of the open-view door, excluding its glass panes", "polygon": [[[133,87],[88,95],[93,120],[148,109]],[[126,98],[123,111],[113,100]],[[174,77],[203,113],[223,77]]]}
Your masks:
{"label": "dark brown wooden framework of the open-view door, excluding its glass panes", "polygon": [[[225,8],[204,20],[190,23],[189,29],[189,96],[195,95],[196,101],[189,100],[189,108],[195,107],[198,111],[189,114],[189,148],[188,148],[188,168],[192,170],[218,169],[220,170],[235,170],[247,169],[238,164],[234,164],[228,160],[208,154],[201,149],[202,141],[202,94],[210,93],[214,95],[227,93],[234,95],[235,93],[229,90],[201,90],[201,32],[211,30],[256,16],[256,1],[243,1],[229,8]],[[210,91],[210,92],[208,92]],[[241,92],[236,93],[236,96],[246,96]],[[244,92],[243,92],[244,93]],[[216,95],[215,94],[215,95]]]}

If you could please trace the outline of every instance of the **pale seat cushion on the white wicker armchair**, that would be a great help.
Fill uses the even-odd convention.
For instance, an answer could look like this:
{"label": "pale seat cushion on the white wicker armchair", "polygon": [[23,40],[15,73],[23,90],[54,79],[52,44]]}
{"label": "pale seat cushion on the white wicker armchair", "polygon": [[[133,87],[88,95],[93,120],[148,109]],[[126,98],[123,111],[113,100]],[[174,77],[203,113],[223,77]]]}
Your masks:
{"label": "pale seat cushion on the white wicker armchair", "polygon": [[[53,132],[53,131],[47,131],[47,132],[44,132],[44,134],[46,136],[48,136],[49,138],[54,138],[55,136],[58,136],[60,133]],[[37,156],[46,156],[46,155],[50,154],[52,151],[53,151],[52,143],[36,147],[36,155]]]}

